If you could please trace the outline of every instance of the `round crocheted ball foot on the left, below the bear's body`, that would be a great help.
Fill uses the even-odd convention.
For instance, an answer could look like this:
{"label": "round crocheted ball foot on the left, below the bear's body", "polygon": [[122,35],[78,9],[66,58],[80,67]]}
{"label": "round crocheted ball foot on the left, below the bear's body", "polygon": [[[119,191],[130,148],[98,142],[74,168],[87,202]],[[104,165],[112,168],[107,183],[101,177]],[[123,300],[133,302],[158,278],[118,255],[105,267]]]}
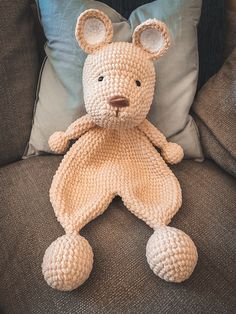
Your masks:
{"label": "round crocheted ball foot on the left, below the bear's body", "polygon": [[47,248],[42,272],[49,286],[70,291],[88,279],[92,267],[93,251],[88,241],[78,234],[67,234]]}

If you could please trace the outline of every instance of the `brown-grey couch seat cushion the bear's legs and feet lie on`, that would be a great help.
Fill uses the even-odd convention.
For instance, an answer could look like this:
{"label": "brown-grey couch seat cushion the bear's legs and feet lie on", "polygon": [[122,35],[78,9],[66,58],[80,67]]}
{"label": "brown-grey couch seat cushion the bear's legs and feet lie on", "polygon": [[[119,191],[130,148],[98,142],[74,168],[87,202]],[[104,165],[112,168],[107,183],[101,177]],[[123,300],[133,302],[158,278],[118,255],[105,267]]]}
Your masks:
{"label": "brown-grey couch seat cushion the bear's legs and feet lie on", "polygon": [[60,157],[35,157],[0,169],[0,312],[11,313],[233,313],[235,309],[236,182],[213,162],[174,167],[183,188],[175,226],[195,241],[199,262],[182,284],[157,278],[145,258],[152,230],[119,198],[82,234],[95,263],[73,292],[47,286],[45,249],[63,229],[48,198]]}

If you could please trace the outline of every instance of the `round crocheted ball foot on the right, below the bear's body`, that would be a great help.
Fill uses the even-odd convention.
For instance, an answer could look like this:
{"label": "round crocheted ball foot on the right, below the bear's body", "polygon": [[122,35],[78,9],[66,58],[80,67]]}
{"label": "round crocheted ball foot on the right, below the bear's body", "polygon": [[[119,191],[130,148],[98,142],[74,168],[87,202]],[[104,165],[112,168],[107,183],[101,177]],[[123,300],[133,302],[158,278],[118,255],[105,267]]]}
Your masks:
{"label": "round crocheted ball foot on the right, below the bear's body", "polygon": [[148,240],[146,257],[154,274],[166,281],[182,282],[192,274],[198,254],[183,231],[160,226]]}

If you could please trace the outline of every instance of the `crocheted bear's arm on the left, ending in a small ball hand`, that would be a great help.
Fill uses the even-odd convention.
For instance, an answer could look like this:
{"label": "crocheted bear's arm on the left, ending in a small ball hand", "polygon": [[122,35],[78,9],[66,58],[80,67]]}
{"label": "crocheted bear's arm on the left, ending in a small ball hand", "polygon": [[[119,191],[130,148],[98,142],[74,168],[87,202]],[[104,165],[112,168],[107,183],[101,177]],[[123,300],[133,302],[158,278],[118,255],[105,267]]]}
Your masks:
{"label": "crocheted bear's arm on the left, ending in a small ball hand", "polygon": [[91,117],[86,114],[73,122],[65,132],[53,133],[48,140],[49,147],[53,152],[62,154],[67,150],[70,140],[79,138],[94,126],[95,123]]}

